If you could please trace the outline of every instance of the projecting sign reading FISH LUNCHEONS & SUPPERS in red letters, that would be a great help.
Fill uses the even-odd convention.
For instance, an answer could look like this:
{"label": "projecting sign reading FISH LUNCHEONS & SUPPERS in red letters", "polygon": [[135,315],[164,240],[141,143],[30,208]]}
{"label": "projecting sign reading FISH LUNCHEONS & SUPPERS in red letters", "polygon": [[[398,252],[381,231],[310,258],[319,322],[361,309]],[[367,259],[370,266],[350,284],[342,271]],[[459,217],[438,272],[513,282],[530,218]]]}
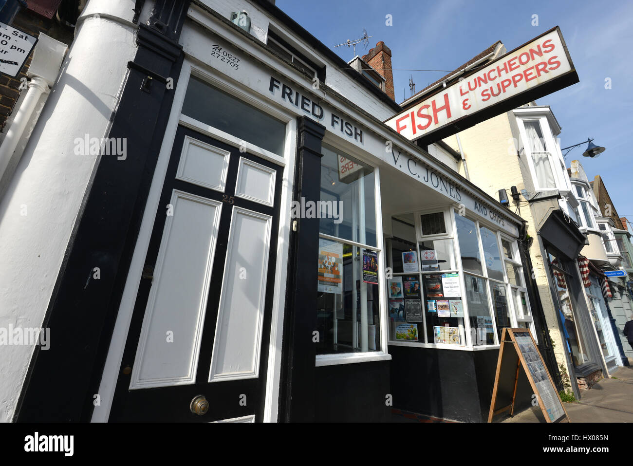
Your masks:
{"label": "projecting sign reading FISH LUNCHEONS & SUPPERS in red letters", "polygon": [[438,87],[385,124],[410,141],[430,144],[577,82],[565,40],[555,27]]}

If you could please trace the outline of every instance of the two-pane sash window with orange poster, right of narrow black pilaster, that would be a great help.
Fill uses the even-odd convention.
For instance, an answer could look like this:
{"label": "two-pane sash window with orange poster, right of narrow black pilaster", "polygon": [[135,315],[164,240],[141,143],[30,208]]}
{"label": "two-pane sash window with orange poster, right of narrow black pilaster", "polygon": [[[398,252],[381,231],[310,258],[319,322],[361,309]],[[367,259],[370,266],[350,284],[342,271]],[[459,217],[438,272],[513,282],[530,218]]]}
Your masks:
{"label": "two-pane sash window with orange poster, right of narrow black pilaster", "polygon": [[373,168],[330,146],[322,153],[320,204],[304,213],[320,218],[316,353],[380,351]]}

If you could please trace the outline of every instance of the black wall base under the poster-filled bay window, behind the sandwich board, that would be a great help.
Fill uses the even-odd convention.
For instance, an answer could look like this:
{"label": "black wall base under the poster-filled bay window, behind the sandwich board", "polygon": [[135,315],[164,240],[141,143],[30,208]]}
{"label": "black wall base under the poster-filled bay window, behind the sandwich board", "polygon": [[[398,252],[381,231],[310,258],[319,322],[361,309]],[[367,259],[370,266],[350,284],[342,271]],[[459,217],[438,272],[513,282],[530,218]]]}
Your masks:
{"label": "black wall base under the poster-filled bay window, behind the sandwich board", "polygon": [[[461,422],[486,422],[499,349],[389,346],[393,407]],[[530,406],[527,378],[517,389],[515,412]]]}

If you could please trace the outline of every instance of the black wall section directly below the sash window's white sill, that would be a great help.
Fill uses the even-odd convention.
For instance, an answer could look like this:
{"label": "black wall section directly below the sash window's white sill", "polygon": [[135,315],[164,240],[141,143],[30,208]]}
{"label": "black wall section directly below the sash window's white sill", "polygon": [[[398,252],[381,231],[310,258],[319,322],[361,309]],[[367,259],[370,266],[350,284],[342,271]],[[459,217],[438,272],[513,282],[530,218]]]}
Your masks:
{"label": "black wall section directly below the sash window's white sill", "polygon": [[389,361],[316,368],[316,422],[389,422]]}

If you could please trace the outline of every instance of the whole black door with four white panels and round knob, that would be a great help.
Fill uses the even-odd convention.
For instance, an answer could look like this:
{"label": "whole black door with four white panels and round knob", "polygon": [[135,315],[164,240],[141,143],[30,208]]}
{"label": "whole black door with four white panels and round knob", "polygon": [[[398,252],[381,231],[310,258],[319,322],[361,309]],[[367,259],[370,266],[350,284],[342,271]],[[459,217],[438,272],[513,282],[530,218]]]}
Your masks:
{"label": "whole black door with four white panels and round knob", "polygon": [[282,173],[179,127],[109,420],[262,419]]}

